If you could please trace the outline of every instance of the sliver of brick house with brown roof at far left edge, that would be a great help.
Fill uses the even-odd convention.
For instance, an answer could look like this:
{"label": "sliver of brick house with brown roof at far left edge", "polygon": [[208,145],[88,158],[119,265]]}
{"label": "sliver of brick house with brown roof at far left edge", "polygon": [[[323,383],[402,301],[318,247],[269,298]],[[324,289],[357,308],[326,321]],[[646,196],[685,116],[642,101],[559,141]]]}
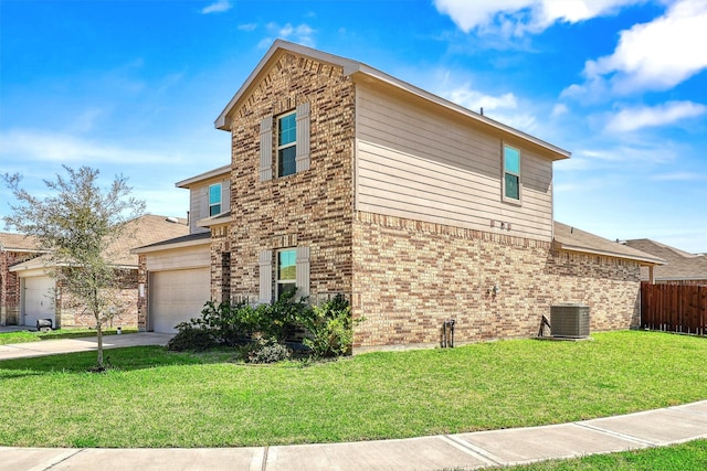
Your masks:
{"label": "sliver of brick house with brown roof at far left edge", "polygon": [[0,233],[0,325],[15,325],[20,320],[20,278],[10,267],[41,254],[33,238]]}

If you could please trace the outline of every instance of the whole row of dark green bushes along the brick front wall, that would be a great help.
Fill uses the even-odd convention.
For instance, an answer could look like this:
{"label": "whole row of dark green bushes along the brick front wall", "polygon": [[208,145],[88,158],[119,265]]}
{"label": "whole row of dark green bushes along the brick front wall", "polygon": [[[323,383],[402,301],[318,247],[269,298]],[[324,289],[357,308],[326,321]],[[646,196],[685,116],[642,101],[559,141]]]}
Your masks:
{"label": "whole row of dark green bushes along the brick front wall", "polygon": [[302,344],[315,358],[350,353],[354,321],[349,302],[341,295],[308,306],[292,290],[272,304],[251,306],[209,301],[201,317],[177,325],[167,347],[203,351],[217,346],[243,346],[241,358],[250,363],[274,363],[292,356],[286,341],[304,332]]}

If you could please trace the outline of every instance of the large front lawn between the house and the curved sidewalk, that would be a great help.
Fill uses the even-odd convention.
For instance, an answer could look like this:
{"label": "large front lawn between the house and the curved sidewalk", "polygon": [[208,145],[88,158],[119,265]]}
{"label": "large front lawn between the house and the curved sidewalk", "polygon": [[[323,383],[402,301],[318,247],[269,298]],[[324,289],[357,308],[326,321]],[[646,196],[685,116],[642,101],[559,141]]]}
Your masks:
{"label": "large front lawn between the house and the curved sidewalk", "polygon": [[0,446],[230,447],[538,426],[707,398],[707,339],[598,333],[305,366],[162,347],[0,362]]}

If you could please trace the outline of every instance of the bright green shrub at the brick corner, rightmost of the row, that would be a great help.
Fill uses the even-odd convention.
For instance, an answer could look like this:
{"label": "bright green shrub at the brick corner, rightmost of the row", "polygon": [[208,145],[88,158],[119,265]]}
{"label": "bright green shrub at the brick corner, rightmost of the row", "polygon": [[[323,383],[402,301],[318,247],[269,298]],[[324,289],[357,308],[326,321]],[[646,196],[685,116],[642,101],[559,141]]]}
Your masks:
{"label": "bright green shrub at the brick corner, rightmost of the row", "polygon": [[[361,320],[357,320],[360,322]],[[315,357],[341,356],[350,353],[354,343],[351,307],[341,295],[312,307],[299,317],[307,335],[303,343]]]}

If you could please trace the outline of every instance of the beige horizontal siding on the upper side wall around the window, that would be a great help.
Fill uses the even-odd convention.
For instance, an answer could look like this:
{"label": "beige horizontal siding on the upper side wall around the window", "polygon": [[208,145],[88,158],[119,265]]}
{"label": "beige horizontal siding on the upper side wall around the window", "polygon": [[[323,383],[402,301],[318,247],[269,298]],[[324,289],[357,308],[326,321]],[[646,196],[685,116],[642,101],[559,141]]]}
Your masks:
{"label": "beige horizontal siding on the upper side wall around the window", "polygon": [[517,140],[521,205],[502,202],[500,136],[357,87],[357,210],[550,240],[552,163]]}

